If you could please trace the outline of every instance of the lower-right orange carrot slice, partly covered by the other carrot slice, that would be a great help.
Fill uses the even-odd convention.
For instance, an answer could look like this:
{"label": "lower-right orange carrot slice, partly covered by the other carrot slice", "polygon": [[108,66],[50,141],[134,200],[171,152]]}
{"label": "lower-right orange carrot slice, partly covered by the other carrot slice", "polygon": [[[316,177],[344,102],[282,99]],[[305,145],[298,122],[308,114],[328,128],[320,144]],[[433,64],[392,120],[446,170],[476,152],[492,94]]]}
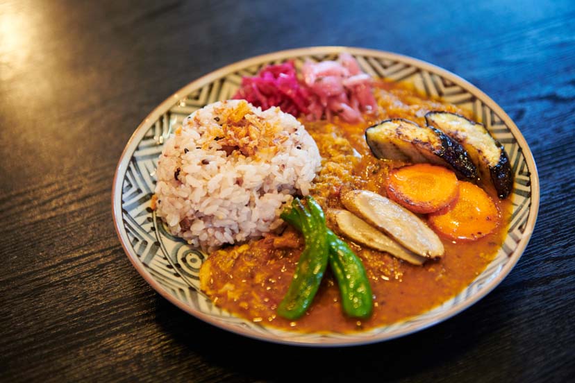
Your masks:
{"label": "lower-right orange carrot slice, partly covered by the other carrot slice", "polygon": [[470,182],[459,182],[459,198],[453,206],[429,216],[429,223],[438,234],[469,241],[485,237],[500,220],[491,197]]}

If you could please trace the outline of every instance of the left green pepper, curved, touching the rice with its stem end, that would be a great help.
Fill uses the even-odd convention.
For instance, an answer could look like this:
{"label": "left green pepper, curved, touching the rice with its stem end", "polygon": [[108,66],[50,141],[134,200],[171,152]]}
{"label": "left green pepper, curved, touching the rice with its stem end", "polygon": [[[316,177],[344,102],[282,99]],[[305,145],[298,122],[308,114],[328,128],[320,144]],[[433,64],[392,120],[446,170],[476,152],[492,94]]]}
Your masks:
{"label": "left green pepper, curved, touching the rice with its stem end", "polygon": [[293,211],[297,213],[301,223],[306,247],[299,256],[288,293],[278,305],[278,314],[292,320],[305,314],[310,307],[328,263],[326,219],[321,208],[315,203],[310,203],[308,212],[301,201],[294,198]]}

